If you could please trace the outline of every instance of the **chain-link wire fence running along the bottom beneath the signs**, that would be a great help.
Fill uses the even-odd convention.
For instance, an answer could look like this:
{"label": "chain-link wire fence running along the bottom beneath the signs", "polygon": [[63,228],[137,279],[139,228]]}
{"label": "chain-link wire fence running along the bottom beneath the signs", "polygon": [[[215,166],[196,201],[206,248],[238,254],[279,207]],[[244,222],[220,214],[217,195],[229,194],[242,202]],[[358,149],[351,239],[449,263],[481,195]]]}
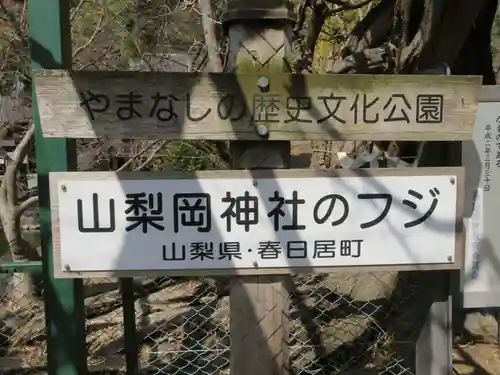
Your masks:
{"label": "chain-link wire fence running along the bottom beneath the signs", "polygon": [[[40,273],[35,271],[5,269],[0,280],[3,374],[46,371],[43,291],[38,287]],[[288,308],[292,374],[367,369],[377,374],[413,373],[418,328],[428,309],[418,298],[423,290],[417,285],[417,273],[297,275],[293,281]],[[27,282],[35,293],[28,294]],[[141,374],[229,373],[225,280],[135,279],[134,297],[125,301],[135,306],[135,330],[124,324],[120,283],[116,279],[85,282],[91,373],[125,373],[126,330],[136,340]],[[16,290],[20,285],[24,291]]]}

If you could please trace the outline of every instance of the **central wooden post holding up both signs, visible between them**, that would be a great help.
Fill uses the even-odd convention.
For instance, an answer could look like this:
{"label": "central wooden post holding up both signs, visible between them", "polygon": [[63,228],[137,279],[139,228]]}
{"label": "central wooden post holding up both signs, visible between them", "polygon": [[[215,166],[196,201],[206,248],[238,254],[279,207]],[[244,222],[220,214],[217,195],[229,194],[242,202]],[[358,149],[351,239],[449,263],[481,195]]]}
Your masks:
{"label": "central wooden post holding up both signs, visible between them", "polygon": [[[291,13],[282,0],[257,2],[228,1],[227,70],[263,75],[290,71],[286,58],[291,48]],[[233,141],[230,151],[233,169],[290,168],[287,141]],[[231,374],[288,373],[289,280],[276,275],[231,279]]]}

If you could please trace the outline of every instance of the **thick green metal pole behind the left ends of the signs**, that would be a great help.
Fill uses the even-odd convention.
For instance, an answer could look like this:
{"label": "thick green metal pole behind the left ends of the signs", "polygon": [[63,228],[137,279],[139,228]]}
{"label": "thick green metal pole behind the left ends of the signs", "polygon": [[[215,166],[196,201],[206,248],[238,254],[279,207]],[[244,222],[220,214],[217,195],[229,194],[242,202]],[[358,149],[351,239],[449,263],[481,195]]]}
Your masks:
{"label": "thick green metal pole behind the left ends of the signs", "polygon": [[[67,0],[29,0],[29,35],[33,68],[71,68],[68,4]],[[36,88],[33,87],[33,90],[34,93]],[[33,95],[33,113],[36,124],[35,146],[40,194],[48,373],[86,375],[83,284],[81,280],[54,278],[48,184],[49,172],[75,169],[75,142],[43,138],[35,95]]]}

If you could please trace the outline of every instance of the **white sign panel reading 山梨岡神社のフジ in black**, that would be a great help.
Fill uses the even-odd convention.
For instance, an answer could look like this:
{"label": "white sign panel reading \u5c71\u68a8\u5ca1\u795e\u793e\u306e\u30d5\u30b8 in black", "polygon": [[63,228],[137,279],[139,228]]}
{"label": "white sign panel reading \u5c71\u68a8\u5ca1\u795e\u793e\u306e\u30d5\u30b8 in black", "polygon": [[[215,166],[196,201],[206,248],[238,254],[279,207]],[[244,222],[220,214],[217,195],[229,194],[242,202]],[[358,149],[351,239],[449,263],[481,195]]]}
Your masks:
{"label": "white sign panel reading \u5c71\u68a8\u5ca1\u795e\u793e\u306e\u30d5\u30b8 in black", "polygon": [[456,176],[119,180],[103,173],[63,173],[56,184],[66,269],[454,261]]}

